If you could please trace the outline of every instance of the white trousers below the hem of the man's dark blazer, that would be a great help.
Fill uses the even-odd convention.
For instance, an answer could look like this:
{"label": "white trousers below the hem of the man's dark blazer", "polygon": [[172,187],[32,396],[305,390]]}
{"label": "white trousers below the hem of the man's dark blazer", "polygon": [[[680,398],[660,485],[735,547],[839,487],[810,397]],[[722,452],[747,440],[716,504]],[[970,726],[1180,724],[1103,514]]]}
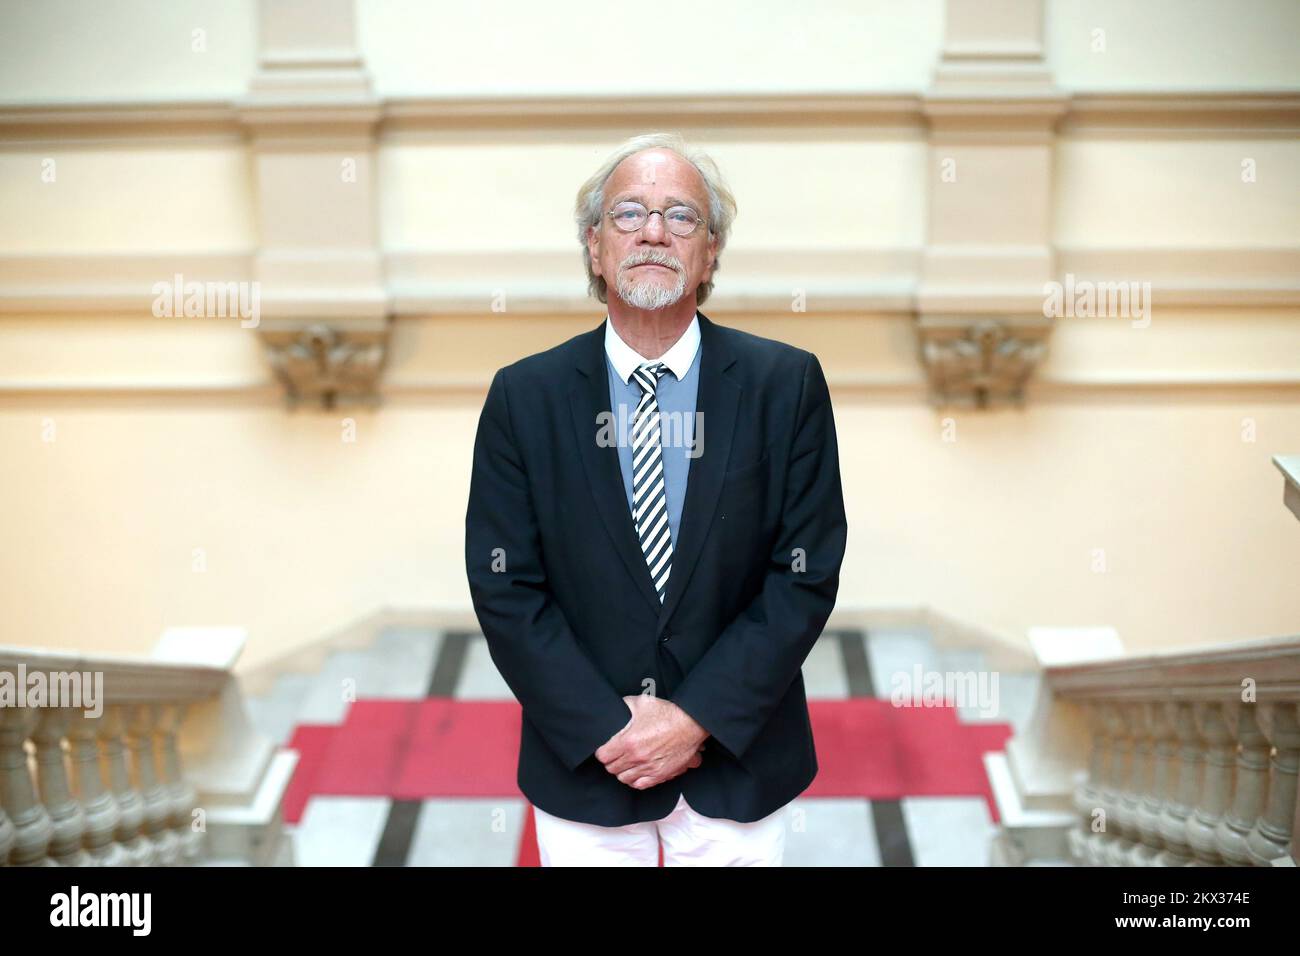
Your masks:
{"label": "white trousers below the hem of the man's dark blazer", "polygon": [[663,819],[595,826],[552,817],[538,806],[542,866],[780,866],[789,804],[753,823],[703,817],[685,795]]}

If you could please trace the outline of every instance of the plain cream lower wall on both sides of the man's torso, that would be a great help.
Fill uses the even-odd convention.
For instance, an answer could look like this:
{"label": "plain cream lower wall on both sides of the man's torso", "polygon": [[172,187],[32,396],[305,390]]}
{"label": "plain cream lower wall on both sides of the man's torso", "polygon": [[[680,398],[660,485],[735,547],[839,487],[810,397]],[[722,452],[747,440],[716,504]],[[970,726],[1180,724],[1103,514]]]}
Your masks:
{"label": "plain cream lower wall on both sides of the man's torso", "polygon": [[[1234,342],[1222,332],[1230,319],[1157,317],[1153,329],[1188,326],[1184,360],[1165,372],[1244,365],[1300,377],[1300,315],[1278,321],[1257,352],[1235,339],[1236,355],[1221,347]],[[1034,624],[1109,624],[1132,648],[1294,632],[1300,529],[1269,463],[1300,447],[1294,390],[1061,394],[1052,382],[1082,369],[1058,363],[1024,410],[932,410],[907,372],[906,330],[889,332],[901,323],[723,321],[812,347],[845,382],[833,389],[850,523],[845,606],[932,606],[1009,640]],[[1087,338],[1071,325],[1089,321],[1102,320],[1066,321],[1058,334]],[[411,323],[399,352],[432,358],[436,342],[489,325],[476,341],[495,342],[491,352],[446,363],[484,378],[594,324]],[[410,326],[422,326],[426,347],[407,341]],[[0,492],[20,506],[0,553],[0,604],[16,611],[5,640],[146,650],[166,626],[243,624],[252,665],[380,607],[463,605],[480,401],[412,388],[380,412],[337,415],[185,393],[8,403]],[[355,442],[343,440],[348,418]]]}

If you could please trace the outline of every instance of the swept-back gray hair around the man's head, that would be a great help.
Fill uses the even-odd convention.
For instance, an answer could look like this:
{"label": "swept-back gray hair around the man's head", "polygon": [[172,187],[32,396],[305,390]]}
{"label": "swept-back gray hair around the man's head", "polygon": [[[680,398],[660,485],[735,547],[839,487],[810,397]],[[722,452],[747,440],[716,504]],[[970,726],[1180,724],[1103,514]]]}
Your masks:
{"label": "swept-back gray hair around the man's head", "polygon": [[[736,198],[732,196],[727,183],[723,182],[718,165],[702,150],[686,144],[676,133],[645,133],[632,137],[610,155],[601,168],[595,170],[590,179],[582,183],[577,191],[575,217],[577,220],[577,241],[582,245],[582,264],[586,267],[586,289],[601,302],[606,302],[608,285],[603,276],[592,272],[592,251],[586,246],[586,233],[592,226],[601,225],[604,212],[604,183],[614,174],[615,168],[628,156],[642,150],[671,150],[681,156],[698,172],[705,181],[705,190],[708,193],[708,235],[718,237],[718,254],[714,259],[714,272],[722,261],[723,247],[727,245],[727,234],[731,224],[736,219]],[[712,276],[699,284],[696,290],[696,303],[699,304],[708,298],[714,290]]]}

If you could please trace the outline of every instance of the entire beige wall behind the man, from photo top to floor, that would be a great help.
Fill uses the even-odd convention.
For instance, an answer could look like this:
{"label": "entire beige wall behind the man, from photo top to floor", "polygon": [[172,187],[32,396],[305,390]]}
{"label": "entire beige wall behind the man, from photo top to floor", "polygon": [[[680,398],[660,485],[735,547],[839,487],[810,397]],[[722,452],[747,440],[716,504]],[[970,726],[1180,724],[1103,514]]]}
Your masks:
{"label": "entire beige wall behind the man, from photo top to floor", "polygon": [[[668,125],[714,153],[740,202],[706,311],[816,351],[831,380],[850,522],[842,606],[930,606],[1014,643],[1036,624],[1109,624],[1134,649],[1300,630],[1300,525],[1269,460],[1300,451],[1294,4],[1251,4],[1252,17],[1226,0],[1193,4],[1197,16],[1171,1],[1046,4],[1056,82],[1100,100],[1034,166],[1050,207],[1041,239],[1061,269],[1127,268],[1158,289],[1147,328],[1058,320],[1024,406],[994,411],[932,407],[918,360],[927,242],[961,235],[954,211],[985,199],[979,181],[932,182],[942,151],[920,107],[889,99],[931,81],[937,0],[682,4],[670,12],[706,18],[698,62],[653,90],[593,69],[578,4],[514,4],[503,30],[477,5],[359,3],[374,94],[433,112],[376,134],[374,251],[395,316],[384,405],[337,412],[286,411],[238,320],[150,315],[150,285],[174,269],[251,278],[283,225],[264,221],[266,166],[230,112],[256,69],[257,5],[164,7],[105,20],[94,4],[4,4],[17,31],[0,52],[18,59],[0,68],[0,643],[144,650],[168,626],[240,624],[255,665],[381,607],[468,607],[463,519],[486,384],[602,319],[584,299],[573,193],[624,135]],[[1105,53],[1088,48],[1095,25]],[[178,65],[195,26],[207,59]],[[129,33],[125,51],[95,46]],[[131,69],[91,72],[91,52]],[[883,96],[881,112],[815,99],[828,90]],[[1124,98],[1169,90],[1264,99],[1240,121],[1182,101],[1213,114],[1208,126],[1178,120],[1178,100],[1154,107],[1154,131],[1123,118]],[[584,118],[580,104],[556,118],[524,101],[550,94],[619,95],[641,113]],[[758,94],[807,96],[809,114],[755,113]],[[438,98],[468,95],[503,117],[438,113]],[[69,99],[91,120],[108,101],[212,109],[174,114],[165,135],[39,112]],[[994,170],[1023,156],[991,150]],[[347,155],[300,159],[296,178],[316,185],[299,226],[318,216],[329,232],[311,190]],[[935,206],[936,189],[963,187]],[[1041,199],[1032,189],[1024,208]],[[991,241],[1032,232],[1020,212],[994,207]],[[507,216],[526,225],[502,229]],[[798,291],[807,312],[790,311]]]}

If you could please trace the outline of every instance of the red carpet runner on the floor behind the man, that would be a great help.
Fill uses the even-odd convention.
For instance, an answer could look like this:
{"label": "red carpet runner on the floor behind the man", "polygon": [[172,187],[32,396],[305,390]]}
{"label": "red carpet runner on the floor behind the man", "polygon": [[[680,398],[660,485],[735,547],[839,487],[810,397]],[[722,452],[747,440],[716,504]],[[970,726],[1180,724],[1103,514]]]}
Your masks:
{"label": "red carpet runner on the floor behind the man", "polygon": [[[980,754],[1001,750],[1010,724],[961,723],[954,708],[872,697],[814,700],[809,710],[820,770],[800,799],[983,796],[997,822]],[[519,721],[515,701],[430,697],[360,700],[342,724],[299,724],[285,821],[298,823],[317,795],[524,799],[515,786]],[[537,866],[533,814],[524,821],[517,865]]]}

